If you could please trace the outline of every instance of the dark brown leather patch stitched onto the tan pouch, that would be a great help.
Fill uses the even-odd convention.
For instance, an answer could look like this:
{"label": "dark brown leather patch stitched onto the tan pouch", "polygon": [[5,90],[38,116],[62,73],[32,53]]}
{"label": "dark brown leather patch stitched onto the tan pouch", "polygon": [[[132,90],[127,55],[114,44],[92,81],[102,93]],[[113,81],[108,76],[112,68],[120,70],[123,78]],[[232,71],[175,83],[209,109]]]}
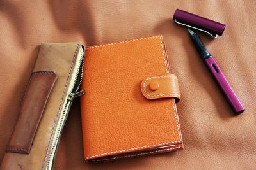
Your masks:
{"label": "dark brown leather patch stitched onto the tan pouch", "polygon": [[29,153],[45,104],[57,79],[52,71],[38,71],[31,78],[24,94],[20,116],[6,152]]}

